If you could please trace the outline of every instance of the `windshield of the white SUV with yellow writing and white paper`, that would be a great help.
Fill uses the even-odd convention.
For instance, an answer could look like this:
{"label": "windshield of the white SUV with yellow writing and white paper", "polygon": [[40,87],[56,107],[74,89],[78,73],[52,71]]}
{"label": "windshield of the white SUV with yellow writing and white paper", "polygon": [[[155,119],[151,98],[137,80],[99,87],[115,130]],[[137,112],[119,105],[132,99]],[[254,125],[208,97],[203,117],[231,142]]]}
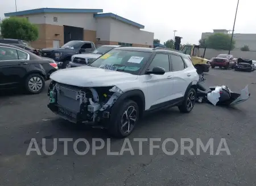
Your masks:
{"label": "windshield of the white SUV with yellow writing and white paper", "polygon": [[108,53],[105,53],[105,55],[93,61],[90,66],[136,75],[150,56],[151,52],[112,49]]}

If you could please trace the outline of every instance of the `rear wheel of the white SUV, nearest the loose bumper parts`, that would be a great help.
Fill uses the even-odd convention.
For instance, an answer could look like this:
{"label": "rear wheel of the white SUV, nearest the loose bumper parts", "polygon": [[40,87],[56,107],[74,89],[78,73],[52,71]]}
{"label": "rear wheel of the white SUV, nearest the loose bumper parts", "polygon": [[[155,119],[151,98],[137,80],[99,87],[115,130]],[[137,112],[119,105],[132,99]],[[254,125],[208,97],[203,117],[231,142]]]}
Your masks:
{"label": "rear wheel of the white SUV, nearest the loose bumper parts", "polygon": [[181,113],[190,113],[196,102],[196,90],[190,88],[184,97],[184,101],[178,106]]}

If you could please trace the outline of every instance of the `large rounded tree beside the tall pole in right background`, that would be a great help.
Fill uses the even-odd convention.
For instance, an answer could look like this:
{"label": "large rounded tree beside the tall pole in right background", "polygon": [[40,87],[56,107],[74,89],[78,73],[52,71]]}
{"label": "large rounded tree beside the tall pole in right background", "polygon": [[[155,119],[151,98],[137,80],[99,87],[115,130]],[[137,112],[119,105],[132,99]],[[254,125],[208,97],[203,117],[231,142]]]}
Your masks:
{"label": "large rounded tree beside the tall pole in right background", "polygon": [[[216,33],[207,39],[207,47],[213,49],[229,50],[231,37],[228,34]],[[232,40],[231,50],[234,49],[236,42]]]}

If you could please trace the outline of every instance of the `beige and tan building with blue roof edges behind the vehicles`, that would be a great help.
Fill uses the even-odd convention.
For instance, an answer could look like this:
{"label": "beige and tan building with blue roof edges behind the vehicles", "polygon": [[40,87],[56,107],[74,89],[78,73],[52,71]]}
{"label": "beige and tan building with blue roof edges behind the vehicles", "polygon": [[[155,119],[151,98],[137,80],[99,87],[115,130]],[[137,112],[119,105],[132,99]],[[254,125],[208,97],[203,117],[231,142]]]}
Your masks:
{"label": "beige and tan building with blue roof edges behind the vehicles", "polygon": [[56,48],[70,40],[88,40],[102,44],[152,47],[154,33],[143,31],[142,24],[102,9],[33,9],[6,13],[6,17],[22,16],[39,28],[39,38],[31,42],[35,48]]}

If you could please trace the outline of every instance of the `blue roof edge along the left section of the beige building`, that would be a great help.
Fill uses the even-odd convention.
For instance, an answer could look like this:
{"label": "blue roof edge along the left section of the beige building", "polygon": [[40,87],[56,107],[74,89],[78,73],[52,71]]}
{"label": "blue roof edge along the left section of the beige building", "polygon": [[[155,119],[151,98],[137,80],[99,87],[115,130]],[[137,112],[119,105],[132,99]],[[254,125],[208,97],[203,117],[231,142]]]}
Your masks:
{"label": "blue roof edge along the left section of the beige building", "polygon": [[55,9],[55,8],[41,8],[31,9],[24,11],[16,11],[13,13],[5,13],[6,17],[28,15],[28,14],[41,14],[41,13],[102,13],[103,9]]}

